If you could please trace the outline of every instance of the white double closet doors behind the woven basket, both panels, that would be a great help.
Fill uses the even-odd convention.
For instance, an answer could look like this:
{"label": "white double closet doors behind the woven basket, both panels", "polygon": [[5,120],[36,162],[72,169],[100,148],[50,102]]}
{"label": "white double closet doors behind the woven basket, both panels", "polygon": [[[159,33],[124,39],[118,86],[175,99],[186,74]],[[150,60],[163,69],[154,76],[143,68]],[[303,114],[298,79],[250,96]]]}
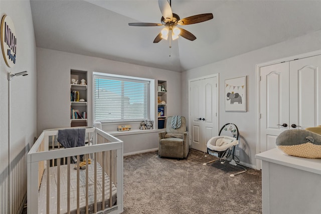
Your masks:
{"label": "white double closet doors behind the woven basket, both panels", "polygon": [[260,68],[260,152],[286,129],[321,125],[321,55]]}

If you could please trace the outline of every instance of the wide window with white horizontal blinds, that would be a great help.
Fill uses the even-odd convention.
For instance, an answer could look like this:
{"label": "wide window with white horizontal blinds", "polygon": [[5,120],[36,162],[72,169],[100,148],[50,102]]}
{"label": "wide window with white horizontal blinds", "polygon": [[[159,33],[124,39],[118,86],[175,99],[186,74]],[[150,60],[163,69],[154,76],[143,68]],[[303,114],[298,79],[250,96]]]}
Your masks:
{"label": "wide window with white horizontal blinds", "polygon": [[150,81],[94,73],[94,121],[146,120]]}

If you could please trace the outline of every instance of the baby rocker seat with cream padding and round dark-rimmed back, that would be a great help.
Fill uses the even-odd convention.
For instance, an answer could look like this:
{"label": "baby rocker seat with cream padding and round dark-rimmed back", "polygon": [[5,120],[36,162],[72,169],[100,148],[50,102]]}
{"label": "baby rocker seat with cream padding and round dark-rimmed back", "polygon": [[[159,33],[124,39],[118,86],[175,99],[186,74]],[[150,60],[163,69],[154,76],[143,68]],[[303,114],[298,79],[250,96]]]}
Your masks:
{"label": "baby rocker seat with cream padding and round dark-rimmed back", "polygon": [[228,161],[231,165],[237,166],[242,169],[242,171],[240,172],[230,174],[231,177],[246,172],[246,168],[237,164],[238,162],[240,162],[240,160],[237,156],[234,155],[235,146],[239,144],[238,139],[239,131],[237,126],[233,123],[225,124],[221,128],[219,136],[212,137],[207,142],[207,152],[210,155],[219,157],[220,159],[203,163],[203,165],[207,165],[215,161],[220,161],[221,164],[224,164],[226,161]]}

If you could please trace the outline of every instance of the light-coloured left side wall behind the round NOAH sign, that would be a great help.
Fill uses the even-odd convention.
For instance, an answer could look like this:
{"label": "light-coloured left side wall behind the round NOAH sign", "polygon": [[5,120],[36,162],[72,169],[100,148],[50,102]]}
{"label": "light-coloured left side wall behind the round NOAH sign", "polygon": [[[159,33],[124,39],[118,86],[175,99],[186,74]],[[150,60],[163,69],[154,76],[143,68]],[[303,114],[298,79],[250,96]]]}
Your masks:
{"label": "light-coloured left side wall behind the round NOAH sign", "polygon": [[[29,1],[0,1],[0,14],[13,20],[17,36],[16,65],[9,68],[0,54],[0,213],[8,213],[8,79],[9,72],[28,71],[25,77],[11,81],[11,142],[10,162],[14,167],[24,149],[34,142],[36,134],[36,42]],[[27,167],[27,166],[24,166]],[[12,182],[11,186],[16,186]],[[16,188],[17,190],[17,188]],[[11,190],[15,195],[16,190]],[[13,201],[13,200],[12,200]],[[13,210],[12,210],[13,211]]]}

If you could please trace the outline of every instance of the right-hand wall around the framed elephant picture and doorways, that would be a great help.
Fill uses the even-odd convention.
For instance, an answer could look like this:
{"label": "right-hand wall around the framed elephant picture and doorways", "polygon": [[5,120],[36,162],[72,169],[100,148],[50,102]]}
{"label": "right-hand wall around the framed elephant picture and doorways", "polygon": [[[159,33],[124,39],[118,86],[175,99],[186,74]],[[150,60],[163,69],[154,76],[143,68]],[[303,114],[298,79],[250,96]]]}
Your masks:
{"label": "right-hand wall around the framed elephant picture and doorways", "polygon": [[[238,146],[240,159],[254,166],[256,164],[254,158],[256,150],[256,65],[319,49],[321,49],[321,31],[186,71],[182,74],[182,114],[188,114],[189,80],[219,73],[219,128],[228,122],[238,126],[241,134]],[[247,112],[225,112],[224,81],[241,76],[247,76]]]}

